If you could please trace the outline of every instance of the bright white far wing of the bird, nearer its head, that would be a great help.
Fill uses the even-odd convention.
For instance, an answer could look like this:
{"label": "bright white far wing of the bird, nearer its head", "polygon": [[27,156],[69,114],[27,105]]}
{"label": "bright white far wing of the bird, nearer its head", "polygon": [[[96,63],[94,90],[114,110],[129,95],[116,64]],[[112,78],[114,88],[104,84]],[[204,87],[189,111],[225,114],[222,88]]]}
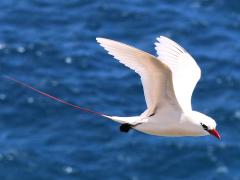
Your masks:
{"label": "bright white far wing of the bird, nearer its head", "polygon": [[160,36],[155,43],[158,59],[172,72],[173,88],[183,111],[192,110],[193,90],[201,77],[201,70],[188,52],[176,42]]}

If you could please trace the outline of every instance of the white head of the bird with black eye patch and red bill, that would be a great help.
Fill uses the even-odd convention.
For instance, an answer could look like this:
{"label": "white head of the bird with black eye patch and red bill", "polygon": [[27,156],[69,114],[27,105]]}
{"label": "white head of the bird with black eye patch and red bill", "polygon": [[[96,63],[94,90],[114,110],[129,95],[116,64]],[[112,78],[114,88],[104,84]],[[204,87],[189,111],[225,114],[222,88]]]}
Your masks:
{"label": "white head of the bird with black eye patch and red bill", "polygon": [[191,118],[194,121],[194,124],[198,126],[198,129],[202,131],[203,134],[213,135],[221,140],[221,136],[216,129],[217,124],[214,119],[196,111],[192,112]]}

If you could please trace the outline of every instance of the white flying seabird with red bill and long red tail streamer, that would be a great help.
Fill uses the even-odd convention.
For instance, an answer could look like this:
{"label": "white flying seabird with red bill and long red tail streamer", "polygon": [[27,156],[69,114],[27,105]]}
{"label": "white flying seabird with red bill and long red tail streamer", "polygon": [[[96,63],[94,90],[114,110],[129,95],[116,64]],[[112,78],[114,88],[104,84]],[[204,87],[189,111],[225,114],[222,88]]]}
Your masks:
{"label": "white flying seabird with red bill and long red tail streamer", "polygon": [[157,56],[153,56],[114,40],[96,40],[110,55],[141,77],[147,109],[139,116],[105,115],[68,103],[14,78],[7,78],[66,105],[114,120],[121,124],[122,132],[136,129],[157,136],[213,135],[221,139],[215,120],[192,109],[192,93],[201,77],[201,70],[183,47],[160,36],[155,43]]}

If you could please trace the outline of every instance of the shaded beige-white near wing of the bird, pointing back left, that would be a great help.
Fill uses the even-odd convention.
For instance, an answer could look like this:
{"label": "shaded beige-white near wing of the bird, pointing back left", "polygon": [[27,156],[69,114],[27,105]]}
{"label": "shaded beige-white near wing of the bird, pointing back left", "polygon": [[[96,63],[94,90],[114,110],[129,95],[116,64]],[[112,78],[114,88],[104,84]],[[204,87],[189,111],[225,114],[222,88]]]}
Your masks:
{"label": "shaded beige-white near wing of the bird, pointing back left", "polygon": [[[152,111],[156,110],[157,105],[163,103],[164,99],[166,99],[164,98],[165,96],[175,98],[171,82],[171,72],[156,57],[110,39],[97,38],[96,40],[115,59],[140,75],[148,109]],[[170,83],[168,83],[169,81]]]}

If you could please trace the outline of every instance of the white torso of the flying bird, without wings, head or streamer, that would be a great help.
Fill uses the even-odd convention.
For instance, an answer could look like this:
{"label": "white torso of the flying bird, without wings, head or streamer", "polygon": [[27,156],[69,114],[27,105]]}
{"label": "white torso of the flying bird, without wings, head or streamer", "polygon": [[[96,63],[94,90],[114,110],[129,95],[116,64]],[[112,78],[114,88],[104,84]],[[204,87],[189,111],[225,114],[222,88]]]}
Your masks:
{"label": "white torso of the flying bird, without wings, head or streamer", "polygon": [[[194,113],[198,112],[191,112],[191,114]],[[131,124],[133,129],[151,135],[171,137],[208,135],[202,127],[198,128],[192,123],[191,114],[179,112],[174,107],[162,107],[153,116],[149,117],[109,116],[109,118],[121,124]]]}

